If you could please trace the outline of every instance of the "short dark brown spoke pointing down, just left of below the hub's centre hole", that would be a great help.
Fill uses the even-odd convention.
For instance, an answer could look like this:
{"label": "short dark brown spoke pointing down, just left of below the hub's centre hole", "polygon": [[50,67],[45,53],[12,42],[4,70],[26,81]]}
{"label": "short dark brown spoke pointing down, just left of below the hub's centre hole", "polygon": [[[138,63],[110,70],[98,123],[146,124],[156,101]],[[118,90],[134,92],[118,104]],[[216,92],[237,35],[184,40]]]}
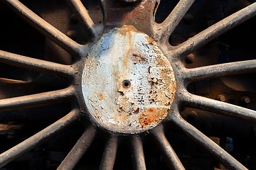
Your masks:
{"label": "short dark brown spoke pointing down, just left of below the hub's centre hole", "polygon": [[100,170],[112,170],[117,156],[118,139],[117,136],[112,135],[105,146],[105,151],[100,163]]}

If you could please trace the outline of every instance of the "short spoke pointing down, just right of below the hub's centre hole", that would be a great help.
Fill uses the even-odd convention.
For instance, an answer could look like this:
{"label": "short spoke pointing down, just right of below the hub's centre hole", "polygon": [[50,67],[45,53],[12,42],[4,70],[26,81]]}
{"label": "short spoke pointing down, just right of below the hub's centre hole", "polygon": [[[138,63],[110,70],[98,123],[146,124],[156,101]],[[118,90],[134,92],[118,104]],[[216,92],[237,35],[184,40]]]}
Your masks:
{"label": "short spoke pointing down, just right of below the hub's centre hole", "polygon": [[134,135],[132,137],[132,156],[133,156],[134,169],[137,169],[137,170],[146,169],[142,140],[137,135]]}

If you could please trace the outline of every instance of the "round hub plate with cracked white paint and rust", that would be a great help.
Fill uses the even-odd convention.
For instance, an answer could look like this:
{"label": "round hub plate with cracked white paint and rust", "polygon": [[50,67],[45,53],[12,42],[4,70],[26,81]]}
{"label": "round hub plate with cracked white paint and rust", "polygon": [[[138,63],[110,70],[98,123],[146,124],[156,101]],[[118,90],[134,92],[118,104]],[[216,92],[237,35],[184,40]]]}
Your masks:
{"label": "round hub plate with cracked white paint and rust", "polygon": [[92,120],[112,132],[138,133],[158,125],[174,100],[169,60],[148,35],[115,28],[92,47],[82,94]]}

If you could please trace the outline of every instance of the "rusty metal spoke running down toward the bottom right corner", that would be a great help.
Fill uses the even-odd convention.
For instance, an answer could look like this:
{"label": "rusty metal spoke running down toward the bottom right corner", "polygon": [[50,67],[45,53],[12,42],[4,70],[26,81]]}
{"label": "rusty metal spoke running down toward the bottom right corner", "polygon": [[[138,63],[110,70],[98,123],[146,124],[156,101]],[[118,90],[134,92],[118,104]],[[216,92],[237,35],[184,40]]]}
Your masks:
{"label": "rusty metal spoke running down toward the bottom right corner", "polygon": [[180,115],[174,114],[172,116],[172,123],[178,126],[188,137],[190,137],[196,144],[201,145],[205,149],[213,154],[213,156],[218,159],[218,161],[223,164],[228,169],[246,169],[245,166],[240,164],[235,158],[233,158],[228,152],[225,152],[220,146],[215,142],[210,140],[202,132],[194,128],[192,125],[187,123]]}

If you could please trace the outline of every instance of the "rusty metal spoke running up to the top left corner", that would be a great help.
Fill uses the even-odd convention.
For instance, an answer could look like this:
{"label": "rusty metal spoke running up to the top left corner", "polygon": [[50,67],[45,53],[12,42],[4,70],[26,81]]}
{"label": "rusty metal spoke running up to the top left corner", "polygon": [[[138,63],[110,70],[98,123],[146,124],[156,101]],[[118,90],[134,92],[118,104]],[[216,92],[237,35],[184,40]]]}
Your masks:
{"label": "rusty metal spoke running up to the top left corner", "polygon": [[21,16],[25,21],[31,24],[31,26],[43,33],[43,35],[46,35],[46,37],[60,45],[60,47],[63,47],[64,50],[73,55],[80,55],[80,48],[82,45],[79,45],[77,42],[68,38],[67,35],[61,33],[60,30],[51,26],[40,16],[36,15],[36,13],[33,13],[29,8],[21,4],[20,1],[6,0],[4,2],[9,5],[18,14],[18,16]]}

